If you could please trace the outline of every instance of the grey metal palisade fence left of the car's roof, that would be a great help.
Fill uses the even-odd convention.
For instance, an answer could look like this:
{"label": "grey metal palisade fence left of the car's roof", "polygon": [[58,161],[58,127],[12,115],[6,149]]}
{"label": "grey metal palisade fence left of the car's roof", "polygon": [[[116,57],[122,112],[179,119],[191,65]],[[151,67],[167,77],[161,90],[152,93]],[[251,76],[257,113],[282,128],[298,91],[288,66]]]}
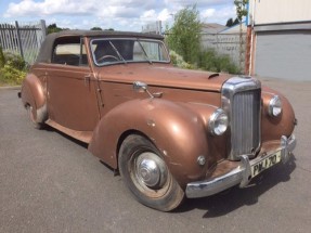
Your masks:
{"label": "grey metal palisade fence left of the car's roof", "polygon": [[0,22],[0,47],[4,52],[20,54],[34,64],[47,35],[46,22]]}

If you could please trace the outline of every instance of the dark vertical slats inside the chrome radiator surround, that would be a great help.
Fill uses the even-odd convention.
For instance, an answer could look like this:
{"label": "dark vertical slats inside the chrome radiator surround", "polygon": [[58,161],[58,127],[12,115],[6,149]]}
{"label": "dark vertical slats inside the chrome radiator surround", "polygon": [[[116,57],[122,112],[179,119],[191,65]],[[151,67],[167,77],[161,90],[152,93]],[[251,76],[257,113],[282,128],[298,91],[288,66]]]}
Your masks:
{"label": "dark vertical slats inside the chrome radiator surround", "polygon": [[233,95],[231,112],[231,151],[233,155],[251,155],[260,144],[260,90]]}

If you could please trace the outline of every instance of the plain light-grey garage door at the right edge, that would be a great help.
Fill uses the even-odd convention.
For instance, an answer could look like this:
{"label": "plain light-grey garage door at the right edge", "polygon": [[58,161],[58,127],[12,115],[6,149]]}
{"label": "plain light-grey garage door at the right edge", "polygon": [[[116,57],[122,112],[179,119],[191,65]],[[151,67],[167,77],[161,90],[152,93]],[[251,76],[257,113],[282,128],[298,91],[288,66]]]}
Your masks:
{"label": "plain light-grey garage door at the right edge", "polygon": [[255,74],[311,81],[311,31],[258,31]]}

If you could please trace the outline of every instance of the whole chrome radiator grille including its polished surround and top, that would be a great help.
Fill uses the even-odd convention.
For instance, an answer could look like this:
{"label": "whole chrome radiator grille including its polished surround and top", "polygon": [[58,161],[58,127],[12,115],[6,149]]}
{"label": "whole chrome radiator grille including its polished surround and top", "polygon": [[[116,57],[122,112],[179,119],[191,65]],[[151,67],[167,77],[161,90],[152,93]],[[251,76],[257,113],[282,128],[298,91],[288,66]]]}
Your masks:
{"label": "whole chrome radiator grille including its polished surround and top", "polygon": [[230,125],[228,158],[239,160],[242,155],[252,157],[260,148],[261,83],[254,78],[230,78],[221,90],[222,108]]}

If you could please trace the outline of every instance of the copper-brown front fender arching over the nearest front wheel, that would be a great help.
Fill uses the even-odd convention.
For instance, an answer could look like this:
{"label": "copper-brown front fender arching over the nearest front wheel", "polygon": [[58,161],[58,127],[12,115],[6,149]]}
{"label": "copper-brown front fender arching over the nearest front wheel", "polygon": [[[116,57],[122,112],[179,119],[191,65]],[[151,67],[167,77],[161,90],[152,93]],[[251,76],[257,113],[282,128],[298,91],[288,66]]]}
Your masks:
{"label": "copper-brown front fender arching over the nearest front wheel", "polygon": [[209,154],[206,117],[213,111],[215,106],[190,107],[161,99],[129,101],[101,119],[89,151],[117,169],[122,141],[132,133],[144,135],[158,148],[170,172],[184,186],[204,178],[213,163],[209,156],[205,166],[197,164],[199,155],[208,157]]}

